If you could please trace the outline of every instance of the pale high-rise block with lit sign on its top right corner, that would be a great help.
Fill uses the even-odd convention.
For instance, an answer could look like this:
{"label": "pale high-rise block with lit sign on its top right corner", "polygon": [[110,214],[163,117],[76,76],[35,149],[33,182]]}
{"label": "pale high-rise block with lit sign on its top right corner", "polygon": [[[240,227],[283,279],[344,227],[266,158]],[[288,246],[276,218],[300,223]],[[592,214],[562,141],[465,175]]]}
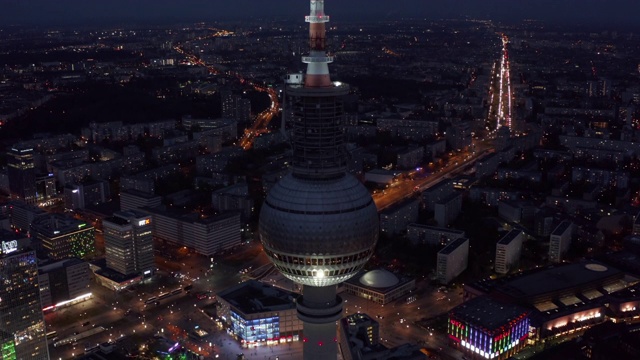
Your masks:
{"label": "pale high-rise block with lit sign on its top right corner", "polygon": [[155,271],[151,215],[119,211],[102,221],[107,267],[122,275],[151,276]]}

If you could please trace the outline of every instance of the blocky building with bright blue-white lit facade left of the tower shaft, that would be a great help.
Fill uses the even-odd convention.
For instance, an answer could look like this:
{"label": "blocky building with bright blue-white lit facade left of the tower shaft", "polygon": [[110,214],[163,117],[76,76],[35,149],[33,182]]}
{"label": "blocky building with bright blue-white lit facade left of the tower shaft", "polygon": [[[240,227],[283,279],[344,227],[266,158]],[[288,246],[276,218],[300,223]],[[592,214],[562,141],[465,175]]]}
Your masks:
{"label": "blocky building with bright blue-white lit facade left of the tower shaft", "polygon": [[300,340],[292,293],[251,280],[217,294],[218,316],[243,346],[271,345]]}

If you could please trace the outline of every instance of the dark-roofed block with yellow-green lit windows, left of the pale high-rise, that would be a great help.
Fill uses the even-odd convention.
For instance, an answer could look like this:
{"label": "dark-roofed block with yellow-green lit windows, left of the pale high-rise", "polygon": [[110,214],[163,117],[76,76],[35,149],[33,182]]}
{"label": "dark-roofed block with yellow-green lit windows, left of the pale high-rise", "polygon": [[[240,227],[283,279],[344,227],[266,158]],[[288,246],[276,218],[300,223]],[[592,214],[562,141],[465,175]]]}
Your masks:
{"label": "dark-roofed block with yellow-green lit windows, left of the pale high-rise", "polygon": [[53,260],[85,258],[95,252],[95,229],[84,221],[62,214],[46,214],[31,223],[33,237]]}

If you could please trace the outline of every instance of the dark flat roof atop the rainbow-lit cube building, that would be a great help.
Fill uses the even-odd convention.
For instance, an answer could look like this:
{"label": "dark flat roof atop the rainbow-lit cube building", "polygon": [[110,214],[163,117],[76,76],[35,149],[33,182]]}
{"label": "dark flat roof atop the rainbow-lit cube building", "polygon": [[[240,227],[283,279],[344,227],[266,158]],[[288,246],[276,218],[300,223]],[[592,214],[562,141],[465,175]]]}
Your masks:
{"label": "dark flat roof atop the rainbow-lit cube building", "polygon": [[495,330],[523,315],[528,310],[513,304],[496,301],[488,296],[475,297],[451,310],[451,315],[467,323]]}

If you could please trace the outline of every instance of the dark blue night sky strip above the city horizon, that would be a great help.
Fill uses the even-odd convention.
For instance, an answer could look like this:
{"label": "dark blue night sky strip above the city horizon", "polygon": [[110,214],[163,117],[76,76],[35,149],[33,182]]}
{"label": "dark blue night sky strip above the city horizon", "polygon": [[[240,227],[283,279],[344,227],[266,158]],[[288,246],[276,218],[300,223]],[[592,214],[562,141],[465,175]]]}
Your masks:
{"label": "dark blue night sky strip above the city horizon", "polygon": [[[326,0],[325,4],[334,21],[469,16],[640,27],[640,0]],[[308,0],[0,0],[0,26],[294,17],[304,16],[308,8]]]}

